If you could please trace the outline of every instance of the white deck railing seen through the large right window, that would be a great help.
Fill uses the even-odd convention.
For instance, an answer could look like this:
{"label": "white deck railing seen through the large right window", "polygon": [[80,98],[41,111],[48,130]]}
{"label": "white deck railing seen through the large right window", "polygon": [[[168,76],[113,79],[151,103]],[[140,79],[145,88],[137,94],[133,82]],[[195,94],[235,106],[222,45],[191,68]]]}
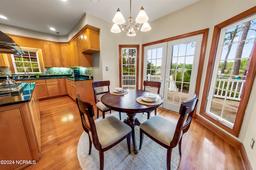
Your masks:
{"label": "white deck railing seen through the large right window", "polygon": [[217,79],[213,97],[240,101],[245,80]]}

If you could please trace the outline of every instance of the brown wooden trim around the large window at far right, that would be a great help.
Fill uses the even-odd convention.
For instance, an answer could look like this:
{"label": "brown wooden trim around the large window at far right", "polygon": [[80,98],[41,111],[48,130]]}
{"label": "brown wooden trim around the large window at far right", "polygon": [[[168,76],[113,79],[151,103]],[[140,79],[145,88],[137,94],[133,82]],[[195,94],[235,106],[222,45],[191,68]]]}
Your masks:
{"label": "brown wooden trim around the large window at far right", "polygon": [[254,47],[254,52],[252,54],[250,67],[249,67],[248,74],[246,77],[246,82],[244,84],[243,95],[241,97],[240,105],[238,107],[237,116],[236,116],[233,128],[227,127],[226,125],[222,124],[220,121],[217,121],[216,119],[214,119],[214,118],[210,117],[208,114],[206,114],[205,113],[206,104],[207,104],[206,101],[207,101],[207,97],[208,97],[208,93],[209,93],[209,89],[210,89],[210,84],[212,81],[212,74],[213,74],[213,69],[214,69],[214,62],[216,59],[218,40],[220,38],[220,30],[230,24],[233,24],[234,22],[237,22],[239,20],[242,20],[244,18],[247,18],[249,16],[256,14],[255,11],[256,11],[256,6],[214,26],[214,31],[213,31],[213,36],[212,36],[212,45],[210,48],[208,67],[207,67],[207,71],[206,71],[206,73],[209,73],[209,74],[206,74],[204,90],[203,90],[203,95],[202,95],[202,102],[201,102],[201,106],[200,106],[200,115],[202,115],[202,117],[205,117],[206,119],[208,119],[215,125],[218,125],[219,127],[223,128],[224,130],[226,130],[230,134],[233,134],[236,137],[238,137],[241,126],[242,126],[244,113],[245,113],[247,103],[248,103],[248,100],[250,97],[250,91],[252,89],[252,85],[253,85],[254,78],[256,75],[256,47]]}

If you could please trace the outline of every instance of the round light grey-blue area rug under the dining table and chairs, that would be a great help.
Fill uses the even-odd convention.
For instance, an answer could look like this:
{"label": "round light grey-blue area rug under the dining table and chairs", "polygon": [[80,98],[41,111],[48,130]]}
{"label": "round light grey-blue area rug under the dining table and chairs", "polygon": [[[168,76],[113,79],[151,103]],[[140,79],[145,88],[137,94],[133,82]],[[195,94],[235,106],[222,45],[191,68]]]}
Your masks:
{"label": "round light grey-blue area rug under the dining table and chairs", "polygon": [[[119,113],[114,112],[107,116],[115,116],[119,119]],[[122,113],[122,120],[126,118],[126,114]],[[147,114],[137,113],[135,116],[140,123],[147,120]],[[101,120],[102,117],[96,121]],[[81,125],[82,128],[82,125]],[[122,142],[104,152],[104,169],[105,170],[165,170],[167,149],[163,148],[148,136],[144,135],[141,150],[140,144],[140,128],[135,127],[135,138],[138,148],[138,154],[134,154],[131,138],[131,154],[128,153],[127,142]],[[99,170],[100,157],[99,152],[92,145],[91,154],[89,152],[88,134],[83,132],[77,146],[77,157],[82,170]],[[171,169],[176,170],[180,162],[180,154],[178,146],[172,150]]]}

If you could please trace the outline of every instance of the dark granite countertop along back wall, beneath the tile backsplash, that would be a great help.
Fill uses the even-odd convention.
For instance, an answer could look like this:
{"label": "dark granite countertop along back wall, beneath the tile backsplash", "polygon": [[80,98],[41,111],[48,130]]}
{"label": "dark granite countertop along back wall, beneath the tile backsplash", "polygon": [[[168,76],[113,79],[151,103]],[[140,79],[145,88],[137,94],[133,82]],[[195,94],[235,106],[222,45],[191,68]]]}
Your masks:
{"label": "dark granite countertop along back wall, beneath the tile backsplash", "polygon": [[[15,81],[22,81],[22,80],[40,80],[40,79],[60,79],[60,78],[66,78],[70,79],[72,81],[82,81],[82,80],[93,80],[92,76],[82,75],[80,77],[72,77],[71,75],[40,75],[39,78],[36,78],[36,76],[31,76],[28,78],[27,76],[21,76],[20,79],[13,79],[13,77],[10,77],[10,79]],[[0,82],[6,80],[6,77],[0,77]]]}

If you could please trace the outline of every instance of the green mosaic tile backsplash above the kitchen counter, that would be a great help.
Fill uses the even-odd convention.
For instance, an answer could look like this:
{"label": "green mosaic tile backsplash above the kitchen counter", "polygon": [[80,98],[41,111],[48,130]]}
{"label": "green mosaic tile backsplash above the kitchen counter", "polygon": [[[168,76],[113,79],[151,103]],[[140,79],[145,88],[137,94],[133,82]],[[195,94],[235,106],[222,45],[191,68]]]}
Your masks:
{"label": "green mosaic tile backsplash above the kitchen counter", "polygon": [[[71,74],[72,69],[79,69],[80,75],[92,75],[92,67],[44,67],[42,75],[65,75]],[[0,67],[0,76],[12,75],[10,67]],[[15,74],[18,75],[18,74]],[[24,75],[24,74],[21,74]],[[32,74],[33,75],[33,74]]]}

